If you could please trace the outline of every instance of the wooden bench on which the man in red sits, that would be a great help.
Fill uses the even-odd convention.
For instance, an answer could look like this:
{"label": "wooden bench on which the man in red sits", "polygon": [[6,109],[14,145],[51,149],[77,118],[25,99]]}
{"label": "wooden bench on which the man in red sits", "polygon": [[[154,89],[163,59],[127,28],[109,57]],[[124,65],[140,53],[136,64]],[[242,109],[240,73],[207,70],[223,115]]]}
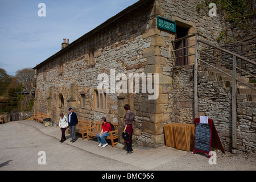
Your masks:
{"label": "wooden bench on which the man in red sits", "polygon": [[[112,147],[118,143],[114,142],[114,139],[118,139],[118,123],[112,123],[115,127],[114,131],[110,131],[110,135],[106,137],[106,139],[111,140]],[[101,133],[102,122],[95,121],[95,126],[91,127],[90,130],[87,131],[87,139],[90,140],[90,137],[97,137],[98,133]]]}

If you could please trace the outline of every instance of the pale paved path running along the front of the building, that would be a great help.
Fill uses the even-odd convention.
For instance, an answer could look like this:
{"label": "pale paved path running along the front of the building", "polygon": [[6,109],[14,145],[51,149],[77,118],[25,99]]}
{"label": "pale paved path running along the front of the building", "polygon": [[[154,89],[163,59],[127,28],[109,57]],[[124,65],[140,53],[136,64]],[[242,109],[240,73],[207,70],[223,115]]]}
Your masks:
{"label": "pale paved path running along the front of the building", "polygon": [[[134,152],[109,145],[98,147],[97,139],[59,143],[59,127],[44,127],[32,120],[0,125],[0,170],[150,170],[188,154],[171,147],[134,146]],[[46,152],[46,165],[39,165],[39,151]],[[108,163],[106,165],[102,165]]]}

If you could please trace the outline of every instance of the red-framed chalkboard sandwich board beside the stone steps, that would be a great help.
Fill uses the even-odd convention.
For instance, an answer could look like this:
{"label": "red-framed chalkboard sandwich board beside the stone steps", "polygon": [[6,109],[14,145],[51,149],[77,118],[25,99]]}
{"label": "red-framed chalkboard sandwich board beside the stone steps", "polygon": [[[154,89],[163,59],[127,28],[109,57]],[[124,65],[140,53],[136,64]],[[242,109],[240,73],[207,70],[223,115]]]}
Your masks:
{"label": "red-framed chalkboard sandwich board beside the stone steps", "polygon": [[196,118],[193,154],[196,154],[196,152],[204,152],[208,155],[208,158],[210,158],[209,152],[212,147],[218,148],[225,153],[213,120],[208,119],[208,122],[200,122],[200,119]]}

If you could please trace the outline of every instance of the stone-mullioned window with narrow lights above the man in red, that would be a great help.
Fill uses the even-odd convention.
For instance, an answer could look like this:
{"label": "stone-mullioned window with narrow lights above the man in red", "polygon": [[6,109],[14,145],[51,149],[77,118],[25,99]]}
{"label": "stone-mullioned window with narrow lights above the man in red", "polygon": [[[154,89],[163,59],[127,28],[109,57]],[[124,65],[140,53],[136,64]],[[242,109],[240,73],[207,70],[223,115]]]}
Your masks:
{"label": "stone-mullioned window with narrow lights above the man in red", "polygon": [[106,90],[94,89],[94,110],[106,113],[106,110],[107,110]]}

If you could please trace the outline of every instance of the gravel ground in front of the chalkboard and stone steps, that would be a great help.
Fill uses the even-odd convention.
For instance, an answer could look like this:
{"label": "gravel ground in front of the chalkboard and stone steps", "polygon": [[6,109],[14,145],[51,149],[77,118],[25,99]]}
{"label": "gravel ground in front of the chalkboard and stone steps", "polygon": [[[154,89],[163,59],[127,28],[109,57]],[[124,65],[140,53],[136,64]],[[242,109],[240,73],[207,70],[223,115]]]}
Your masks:
{"label": "gravel ground in front of the chalkboard and stone steps", "polygon": [[255,171],[256,154],[231,154],[217,152],[217,164],[209,164],[206,154],[189,152],[187,155],[163,164],[155,170],[211,170],[211,171]]}

